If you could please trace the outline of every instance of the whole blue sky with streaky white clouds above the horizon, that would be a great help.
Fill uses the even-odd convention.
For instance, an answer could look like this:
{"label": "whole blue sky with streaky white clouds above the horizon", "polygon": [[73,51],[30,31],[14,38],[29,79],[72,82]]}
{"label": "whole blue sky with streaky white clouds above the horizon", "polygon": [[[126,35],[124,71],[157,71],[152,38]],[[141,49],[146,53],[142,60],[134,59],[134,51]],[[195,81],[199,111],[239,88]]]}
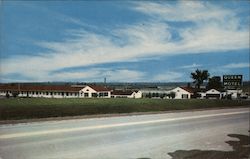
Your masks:
{"label": "whole blue sky with streaky white clouds above the horizon", "polygon": [[249,80],[248,1],[1,1],[0,82]]}

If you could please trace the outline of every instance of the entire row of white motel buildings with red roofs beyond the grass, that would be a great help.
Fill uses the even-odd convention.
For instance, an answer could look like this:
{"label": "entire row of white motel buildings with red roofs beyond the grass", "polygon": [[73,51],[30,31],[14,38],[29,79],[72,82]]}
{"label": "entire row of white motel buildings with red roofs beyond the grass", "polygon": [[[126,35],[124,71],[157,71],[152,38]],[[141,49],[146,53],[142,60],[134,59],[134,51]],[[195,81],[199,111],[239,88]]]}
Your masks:
{"label": "entire row of white motel buildings with red roofs beyond the grass", "polygon": [[[112,90],[97,85],[27,85],[27,84],[0,84],[0,96],[41,97],[41,98],[142,98],[147,93],[175,93],[173,99],[190,99],[194,91],[188,87],[176,87],[171,90]],[[237,99],[242,90],[227,90],[220,92],[215,89],[198,92],[200,99],[221,99],[227,94]]]}

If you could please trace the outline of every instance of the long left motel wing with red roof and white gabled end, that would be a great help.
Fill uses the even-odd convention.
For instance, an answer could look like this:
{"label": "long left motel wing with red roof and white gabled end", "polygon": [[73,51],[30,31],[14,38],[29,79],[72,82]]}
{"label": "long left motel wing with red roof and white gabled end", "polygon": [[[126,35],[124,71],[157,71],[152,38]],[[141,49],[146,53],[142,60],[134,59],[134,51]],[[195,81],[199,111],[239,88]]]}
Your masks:
{"label": "long left motel wing with red roof and white gabled end", "polygon": [[111,98],[111,90],[96,85],[0,85],[0,96],[43,98]]}

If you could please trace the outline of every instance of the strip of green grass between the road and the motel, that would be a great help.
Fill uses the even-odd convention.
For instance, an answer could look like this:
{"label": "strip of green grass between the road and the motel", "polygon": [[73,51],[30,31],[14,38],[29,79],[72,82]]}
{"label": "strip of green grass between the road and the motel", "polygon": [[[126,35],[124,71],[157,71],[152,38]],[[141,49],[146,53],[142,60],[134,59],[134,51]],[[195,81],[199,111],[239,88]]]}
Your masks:
{"label": "strip of green grass between the road and the motel", "polygon": [[162,99],[0,99],[0,120],[34,119],[93,114],[188,110],[250,105],[244,100]]}

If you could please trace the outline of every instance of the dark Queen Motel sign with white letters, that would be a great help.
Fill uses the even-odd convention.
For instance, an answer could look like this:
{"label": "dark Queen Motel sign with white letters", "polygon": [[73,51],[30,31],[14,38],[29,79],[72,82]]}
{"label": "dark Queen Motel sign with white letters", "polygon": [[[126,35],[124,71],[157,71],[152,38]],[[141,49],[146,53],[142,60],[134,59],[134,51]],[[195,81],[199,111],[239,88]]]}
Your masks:
{"label": "dark Queen Motel sign with white letters", "polygon": [[242,75],[223,75],[223,85],[225,87],[240,87],[242,85]]}

